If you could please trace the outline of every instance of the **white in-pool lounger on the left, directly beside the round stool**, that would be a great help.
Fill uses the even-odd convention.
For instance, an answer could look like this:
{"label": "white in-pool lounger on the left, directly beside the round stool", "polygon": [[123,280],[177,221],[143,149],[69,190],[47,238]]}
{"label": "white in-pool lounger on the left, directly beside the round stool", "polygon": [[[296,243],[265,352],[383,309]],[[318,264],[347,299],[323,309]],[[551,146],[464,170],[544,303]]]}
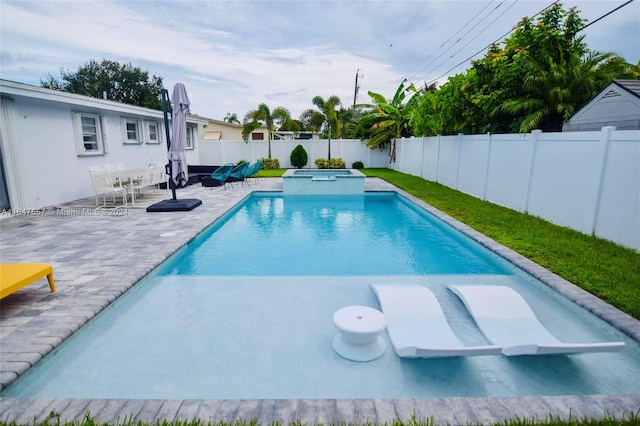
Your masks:
{"label": "white in-pool lounger on the left, directly beside the round stool", "polygon": [[399,357],[499,355],[500,346],[463,346],[431,290],[420,285],[372,285]]}

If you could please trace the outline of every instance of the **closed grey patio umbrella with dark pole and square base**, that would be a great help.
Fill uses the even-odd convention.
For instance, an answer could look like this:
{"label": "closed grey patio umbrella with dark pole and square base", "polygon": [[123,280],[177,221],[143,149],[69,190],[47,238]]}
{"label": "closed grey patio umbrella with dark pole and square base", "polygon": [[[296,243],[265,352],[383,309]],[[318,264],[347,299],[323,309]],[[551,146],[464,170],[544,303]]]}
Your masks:
{"label": "closed grey patio umbrella with dark pole and square base", "polygon": [[169,104],[169,92],[162,89],[162,111],[164,113],[164,126],[167,137],[169,160],[169,184],[173,199],[160,201],[147,207],[148,212],[169,212],[193,210],[202,204],[198,199],[182,199],[176,197],[176,186],[182,186],[188,181],[187,158],[184,150],[187,146],[187,114],[189,113],[189,96],[182,83],[176,83],[173,87],[173,108],[171,110],[171,135],[169,135],[169,119],[167,105]]}

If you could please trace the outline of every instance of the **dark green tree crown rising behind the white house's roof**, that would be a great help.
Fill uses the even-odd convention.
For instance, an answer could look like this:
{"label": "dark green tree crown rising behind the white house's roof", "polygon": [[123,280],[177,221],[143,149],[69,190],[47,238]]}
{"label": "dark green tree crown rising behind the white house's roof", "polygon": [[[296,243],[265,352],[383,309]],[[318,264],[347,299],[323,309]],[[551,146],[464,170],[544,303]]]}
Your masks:
{"label": "dark green tree crown rising behind the white house's roof", "polygon": [[155,74],[149,77],[147,71],[130,63],[120,64],[108,59],[97,62],[92,59],[76,72],[61,69],[59,80],[48,74],[44,80],[40,80],[40,85],[100,99],[106,92],[107,99],[111,101],[162,109],[162,77]]}

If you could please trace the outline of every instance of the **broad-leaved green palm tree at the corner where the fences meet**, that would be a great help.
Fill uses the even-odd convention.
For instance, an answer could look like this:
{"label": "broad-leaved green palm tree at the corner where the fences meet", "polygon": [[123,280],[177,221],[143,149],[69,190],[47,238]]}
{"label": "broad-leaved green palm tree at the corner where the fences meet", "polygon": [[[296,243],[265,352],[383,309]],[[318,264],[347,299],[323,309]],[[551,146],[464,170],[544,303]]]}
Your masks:
{"label": "broad-leaved green palm tree at the corner where the fences meet", "polygon": [[403,80],[398,86],[395,95],[391,101],[387,101],[384,96],[379,93],[369,91],[369,96],[375,104],[362,105],[368,109],[372,109],[365,117],[377,119],[371,127],[371,137],[367,142],[370,148],[384,148],[389,142],[389,161],[396,161],[396,139],[402,136],[403,131],[409,128],[409,121],[413,112],[412,99],[406,104],[402,102],[407,97],[407,93],[415,92],[416,88],[413,83],[406,86],[407,80]]}

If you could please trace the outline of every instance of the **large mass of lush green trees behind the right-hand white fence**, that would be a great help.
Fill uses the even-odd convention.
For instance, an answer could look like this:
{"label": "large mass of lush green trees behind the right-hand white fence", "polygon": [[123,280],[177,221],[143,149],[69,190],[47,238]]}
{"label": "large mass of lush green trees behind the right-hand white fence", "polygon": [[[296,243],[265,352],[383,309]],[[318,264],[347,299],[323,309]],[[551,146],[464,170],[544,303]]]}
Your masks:
{"label": "large mass of lush green trees behind the right-hand white fence", "polygon": [[465,73],[425,91],[411,119],[416,136],[559,131],[578,109],[615,79],[638,68],[612,52],[590,51],[575,8],[554,3],[523,18]]}

